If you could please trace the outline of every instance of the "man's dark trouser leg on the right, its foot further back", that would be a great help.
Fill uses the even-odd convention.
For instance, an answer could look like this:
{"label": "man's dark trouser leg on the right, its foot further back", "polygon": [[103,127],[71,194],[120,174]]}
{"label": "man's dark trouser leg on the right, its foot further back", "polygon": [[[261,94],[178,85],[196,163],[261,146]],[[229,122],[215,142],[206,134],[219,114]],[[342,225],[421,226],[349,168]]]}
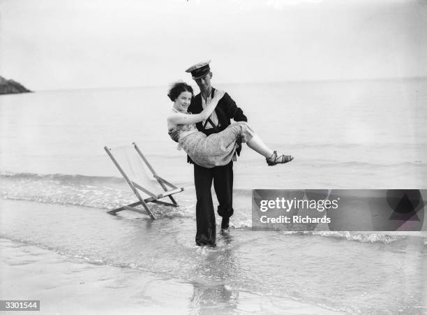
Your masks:
{"label": "man's dark trouser leg on the right, its foot further back", "polygon": [[218,198],[218,214],[223,217],[221,228],[228,227],[228,218],[233,213],[233,162],[213,169],[213,186]]}

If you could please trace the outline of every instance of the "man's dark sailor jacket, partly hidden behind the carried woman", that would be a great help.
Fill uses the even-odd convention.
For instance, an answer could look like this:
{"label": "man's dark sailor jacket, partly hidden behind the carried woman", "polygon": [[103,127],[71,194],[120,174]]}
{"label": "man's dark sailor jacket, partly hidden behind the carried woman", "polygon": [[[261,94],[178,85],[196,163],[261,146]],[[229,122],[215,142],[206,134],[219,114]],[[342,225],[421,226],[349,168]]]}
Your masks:
{"label": "man's dark sailor jacket, partly hidden behind the carried woman", "polygon": [[[213,91],[215,89],[212,87],[211,91],[211,98],[213,98]],[[202,112],[202,94],[197,94],[193,97],[191,100],[190,106],[188,106],[188,112],[191,112],[192,114],[199,114]],[[204,129],[202,122],[197,122],[196,127],[197,130],[202,131],[205,135],[211,135],[212,133],[218,133],[220,131],[223,131],[227,126],[231,124],[230,119],[234,119],[234,122],[247,122],[248,119],[243,113],[243,110],[241,108],[238,108],[236,103],[232,100],[230,95],[227,93],[224,94],[223,98],[220,99],[218,102],[218,105],[216,105],[215,108],[216,116],[218,117],[218,122],[220,126],[218,128],[211,128],[211,129]],[[209,122],[208,122],[209,124]],[[239,143],[239,147],[237,147],[237,155],[240,154],[241,151],[241,143]],[[194,163],[190,156],[187,156],[188,163]]]}

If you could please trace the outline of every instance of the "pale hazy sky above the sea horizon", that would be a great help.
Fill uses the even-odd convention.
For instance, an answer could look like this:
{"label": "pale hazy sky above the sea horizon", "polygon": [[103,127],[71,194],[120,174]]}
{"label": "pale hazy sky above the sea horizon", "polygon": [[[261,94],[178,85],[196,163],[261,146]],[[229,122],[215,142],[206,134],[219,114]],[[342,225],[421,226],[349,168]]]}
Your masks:
{"label": "pale hazy sky above the sea horizon", "polygon": [[33,90],[427,76],[426,0],[0,0],[0,75]]}

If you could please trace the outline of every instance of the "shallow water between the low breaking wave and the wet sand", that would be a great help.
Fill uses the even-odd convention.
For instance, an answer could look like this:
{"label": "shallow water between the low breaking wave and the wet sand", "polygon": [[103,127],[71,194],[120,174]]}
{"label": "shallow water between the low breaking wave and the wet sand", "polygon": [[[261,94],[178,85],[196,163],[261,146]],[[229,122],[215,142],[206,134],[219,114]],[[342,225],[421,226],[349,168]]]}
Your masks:
{"label": "shallow water between the low breaking wave and the wet sand", "polygon": [[[96,265],[152,272],[193,284],[207,300],[246,292],[292,298],[350,314],[421,314],[427,234],[285,233],[232,229],[216,249],[196,247],[195,221],[179,212],[103,210],[2,201],[0,237]],[[162,217],[163,216],[163,217]],[[410,234],[410,235],[408,235]]]}

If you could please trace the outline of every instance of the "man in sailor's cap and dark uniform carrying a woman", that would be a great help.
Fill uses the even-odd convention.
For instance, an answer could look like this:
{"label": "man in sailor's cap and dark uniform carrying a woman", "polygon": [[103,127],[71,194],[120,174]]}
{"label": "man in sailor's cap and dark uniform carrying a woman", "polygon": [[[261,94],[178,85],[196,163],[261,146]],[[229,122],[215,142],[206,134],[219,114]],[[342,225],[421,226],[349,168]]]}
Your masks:
{"label": "man in sailor's cap and dark uniform carrying a woman", "polygon": [[[211,101],[213,91],[211,86],[212,73],[209,68],[209,61],[200,62],[186,70],[191,73],[193,80],[200,88],[200,94],[197,94],[191,100],[188,107],[188,112],[198,114],[206,107],[206,104]],[[237,107],[232,98],[225,93],[220,99],[216,109],[211,116],[203,122],[196,124],[197,129],[206,135],[223,131],[230,125],[230,119],[235,122],[247,122],[248,119],[243,111]],[[237,154],[240,153],[241,144],[237,149]],[[235,156],[234,156],[235,157]],[[190,157],[187,157],[188,163],[193,163]],[[235,159],[234,159],[235,161]],[[218,198],[218,214],[223,217],[221,222],[221,233],[227,233],[230,217],[233,210],[233,162],[231,161],[225,166],[216,166],[214,168],[203,168],[194,164],[194,182],[196,190],[196,222],[197,232],[195,241],[199,246],[216,246],[216,222],[215,212],[213,210],[211,186],[215,189],[216,197]]]}

